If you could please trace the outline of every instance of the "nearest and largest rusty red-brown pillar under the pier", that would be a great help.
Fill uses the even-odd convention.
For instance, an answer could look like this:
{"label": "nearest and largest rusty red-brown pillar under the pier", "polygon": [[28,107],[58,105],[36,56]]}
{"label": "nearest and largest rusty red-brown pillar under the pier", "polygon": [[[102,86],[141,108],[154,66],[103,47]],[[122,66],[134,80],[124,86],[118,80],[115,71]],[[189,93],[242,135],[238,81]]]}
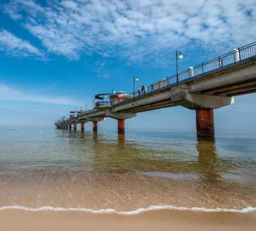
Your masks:
{"label": "nearest and largest rusty red-brown pillar under the pier", "polygon": [[197,137],[214,137],[213,109],[196,109]]}

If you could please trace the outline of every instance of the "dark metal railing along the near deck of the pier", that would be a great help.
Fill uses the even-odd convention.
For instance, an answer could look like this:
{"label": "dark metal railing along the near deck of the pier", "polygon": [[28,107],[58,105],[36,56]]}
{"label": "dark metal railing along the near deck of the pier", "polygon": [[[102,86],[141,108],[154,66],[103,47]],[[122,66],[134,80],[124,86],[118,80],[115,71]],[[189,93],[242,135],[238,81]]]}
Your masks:
{"label": "dark metal railing along the near deck of the pier", "polygon": [[[190,78],[198,77],[199,75],[204,75],[210,71],[218,70],[220,68],[230,66],[231,64],[239,63],[254,56],[256,56],[256,42],[250,43],[249,45],[240,47],[238,49],[234,49],[232,52],[228,52],[227,54],[218,56],[197,66],[189,67],[187,70],[181,71],[180,73],[172,75],[171,77],[163,78],[163,80],[146,86],[145,89],[141,89],[141,91],[124,94],[124,99],[122,102],[131,100],[133,98],[138,98],[144,94],[151,93],[152,91],[156,91],[163,87],[172,86],[173,84],[183,82]],[[118,103],[113,103],[113,105]]]}

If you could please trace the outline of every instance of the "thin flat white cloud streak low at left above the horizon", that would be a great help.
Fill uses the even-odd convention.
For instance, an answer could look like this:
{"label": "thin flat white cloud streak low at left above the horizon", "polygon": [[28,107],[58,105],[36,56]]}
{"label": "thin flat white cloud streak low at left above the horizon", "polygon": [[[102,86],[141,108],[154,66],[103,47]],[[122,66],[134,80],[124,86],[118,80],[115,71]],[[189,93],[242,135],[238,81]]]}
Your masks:
{"label": "thin flat white cloud streak low at left above the horizon", "polygon": [[70,98],[50,98],[49,96],[26,94],[8,87],[4,84],[0,84],[0,100],[12,100],[12,101],[30,101],[36,103],[50,103],[60,105],[82,105],[83,103],[71,100]]}

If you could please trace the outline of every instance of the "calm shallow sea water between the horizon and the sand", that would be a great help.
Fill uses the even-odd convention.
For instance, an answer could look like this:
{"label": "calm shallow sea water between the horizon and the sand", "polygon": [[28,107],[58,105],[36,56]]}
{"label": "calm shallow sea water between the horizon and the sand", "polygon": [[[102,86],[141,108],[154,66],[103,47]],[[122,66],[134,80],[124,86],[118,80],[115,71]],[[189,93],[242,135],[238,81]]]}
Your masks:
{"label": "calm shallow sea water between the horizon and the sand", "polygon": [[250,211],[256,207],[256,135],[198,140],[177,131],[2,129],[0,207],[6,206]]}

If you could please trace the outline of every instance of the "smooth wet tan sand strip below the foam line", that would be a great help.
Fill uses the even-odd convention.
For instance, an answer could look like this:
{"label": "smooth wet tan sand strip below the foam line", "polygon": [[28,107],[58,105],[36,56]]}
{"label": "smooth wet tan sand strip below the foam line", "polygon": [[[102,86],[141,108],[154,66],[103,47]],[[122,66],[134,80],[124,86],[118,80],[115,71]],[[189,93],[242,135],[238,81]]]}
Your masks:
{"label": "smooth wet tan sand strip below the foam line", "polygon": [[149,211],[136,215],[74,211],[0,211],[1,231],[255,230],[256,212]]}

